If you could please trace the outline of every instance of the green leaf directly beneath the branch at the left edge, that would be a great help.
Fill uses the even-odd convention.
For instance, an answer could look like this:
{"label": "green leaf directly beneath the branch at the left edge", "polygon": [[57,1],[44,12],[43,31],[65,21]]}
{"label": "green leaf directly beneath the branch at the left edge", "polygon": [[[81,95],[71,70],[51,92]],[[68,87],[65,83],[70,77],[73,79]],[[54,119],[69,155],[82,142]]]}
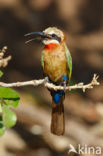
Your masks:
{"label": "green leaf directly beneath the branch at the left edge", "polygon": [[12,99],[12,98],[16,99],[16,98],[19,98],[19,94],[11,88],[0,87],[0,97],[6,98],[6,99],[8,99],[8,98],[9,99]]}

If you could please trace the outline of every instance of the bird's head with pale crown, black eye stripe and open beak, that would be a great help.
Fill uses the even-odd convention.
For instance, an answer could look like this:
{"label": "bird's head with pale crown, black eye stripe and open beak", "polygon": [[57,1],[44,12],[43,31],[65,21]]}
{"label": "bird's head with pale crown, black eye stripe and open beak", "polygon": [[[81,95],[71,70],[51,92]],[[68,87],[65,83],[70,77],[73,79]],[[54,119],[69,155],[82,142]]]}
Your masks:
{"label": "bird's head with pale crown, black eye stripe and open beak", "polygon": [[31,36],[31,35],[33,36],[33,39],[29,41],[39,38],[44,45],[49,45],[49,44],[59,45],[65,40],[64,33],[56,27],[49,27],[42,32],[31,32],[26,34],[25,36]]}

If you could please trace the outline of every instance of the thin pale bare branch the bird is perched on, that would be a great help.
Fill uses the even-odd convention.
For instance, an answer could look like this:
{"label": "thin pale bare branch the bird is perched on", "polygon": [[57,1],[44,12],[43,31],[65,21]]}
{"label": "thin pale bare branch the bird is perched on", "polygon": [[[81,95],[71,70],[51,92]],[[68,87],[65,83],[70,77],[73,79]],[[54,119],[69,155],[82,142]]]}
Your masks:
{"label": "thin pale bare branch the bird is perched on", "polygon": [[[84,83],[79,83],[79,84],[75,84],[73,86],[67,86],[66,90],[82,89],[83,92],[85,92],[86,89],[91,89],[94,86],[99,85],[100,83],[97,80],[98,80],[98,76],[96,74],[94,74],[93,79],[89,84],[84,85]],[[2,87],[39,86],[42,84],[49,89],[64,90],[63,86],[56,86],[52,83],[49,83],[49,82],[47,82],[47,79],[31,80],[31,81],[15,82],[15,83],[0,82],[0,86],[2,86]]]}

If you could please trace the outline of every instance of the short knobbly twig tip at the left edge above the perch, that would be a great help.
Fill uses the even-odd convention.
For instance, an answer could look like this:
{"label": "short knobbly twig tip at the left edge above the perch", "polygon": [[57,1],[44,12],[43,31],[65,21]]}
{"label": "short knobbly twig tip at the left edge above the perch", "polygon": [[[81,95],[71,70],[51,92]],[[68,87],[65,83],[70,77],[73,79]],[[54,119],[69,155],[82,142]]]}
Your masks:
{"label": "short knobbly twig tip at the left edge above the perch", "polygon": [[11,60],[11,56],[3,58],[6,50],[7,50],[7,47],[5,46],[0,51],[0,67],[6,67],[8,65],[9,60]]}

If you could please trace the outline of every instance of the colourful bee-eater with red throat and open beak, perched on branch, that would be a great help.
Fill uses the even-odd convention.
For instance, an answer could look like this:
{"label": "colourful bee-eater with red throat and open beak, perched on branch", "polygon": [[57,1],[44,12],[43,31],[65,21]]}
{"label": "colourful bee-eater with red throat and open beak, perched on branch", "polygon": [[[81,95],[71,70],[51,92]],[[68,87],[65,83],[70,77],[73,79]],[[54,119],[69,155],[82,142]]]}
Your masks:
{"label": "colourful bee-eater with red throat and open beak, perched on branch", "polygon": [[41,52],[44,77],[47,77],[49,82],[64,87],[64,90],[48,89],[52,96],[51,133],[57,136],[64,135],[65,91],[72,74],[72,57],[66,44],[66,36],[57,27],[48,27],[41,32],[31,32],[25,36],[31,35],[34,38],[27,42],[39,39],[44,44]]}

